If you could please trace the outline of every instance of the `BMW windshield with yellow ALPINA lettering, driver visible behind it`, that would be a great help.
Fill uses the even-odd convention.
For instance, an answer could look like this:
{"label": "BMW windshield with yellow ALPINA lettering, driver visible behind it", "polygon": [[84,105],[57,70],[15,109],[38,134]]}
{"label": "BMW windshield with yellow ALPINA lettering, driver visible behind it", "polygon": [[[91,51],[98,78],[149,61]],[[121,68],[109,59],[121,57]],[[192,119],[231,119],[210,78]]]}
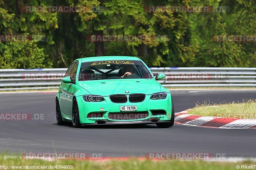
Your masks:
{"label": "BMW windshield with yellow ALPINA lettering, driver visible behind it", "polygon": [[79,71],[79,81],[122,78],[153,77],[147,67],[138,60],[85,62],[81,64]]}

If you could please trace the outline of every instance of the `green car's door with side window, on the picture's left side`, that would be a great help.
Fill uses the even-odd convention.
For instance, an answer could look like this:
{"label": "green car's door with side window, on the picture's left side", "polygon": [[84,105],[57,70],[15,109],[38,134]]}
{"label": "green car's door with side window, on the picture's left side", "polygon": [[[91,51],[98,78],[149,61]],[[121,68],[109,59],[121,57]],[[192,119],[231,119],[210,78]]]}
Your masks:
{"label": "green car's door with side window, on the picture's left side", "polygon": [[[74,72],[77,70],[78,63],[74,62],[72,63],[66,74],[65,77],[67,76],[72,76],[74,75]],[[61,112],[67,114],[67,115],[72,115],[72,89],[73,89],[73,83],[61,83],[61,92],[60,92],[60,109]]]}

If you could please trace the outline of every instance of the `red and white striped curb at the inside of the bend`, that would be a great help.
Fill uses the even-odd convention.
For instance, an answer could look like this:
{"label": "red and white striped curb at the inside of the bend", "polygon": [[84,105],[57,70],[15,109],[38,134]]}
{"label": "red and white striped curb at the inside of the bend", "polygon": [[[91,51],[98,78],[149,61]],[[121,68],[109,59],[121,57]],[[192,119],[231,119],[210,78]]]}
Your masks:
{"label": "red and white striped curb at the inside of the bend", "polygon": [[187,109],[176,113],[174,122],[188,126],[200,126],[208,128],[225,128],[225,129],[249,129],[256,128],[256,119],[238,119],[214,116],[189,115]]}

